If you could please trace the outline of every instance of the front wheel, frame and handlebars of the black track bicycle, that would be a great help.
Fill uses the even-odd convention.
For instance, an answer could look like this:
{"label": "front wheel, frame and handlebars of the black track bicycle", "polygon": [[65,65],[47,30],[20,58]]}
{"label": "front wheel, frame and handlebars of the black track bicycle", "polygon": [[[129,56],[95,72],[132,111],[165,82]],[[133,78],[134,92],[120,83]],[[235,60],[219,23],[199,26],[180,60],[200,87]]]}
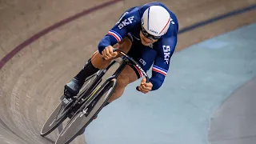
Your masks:
{"label": "front wheel, frame and handlebars of the black track bicycle", "polygon": [[[122,70],[126,65],[137,66],[139,70],[142,71],[142,74],[146,77],[146,82],[149,82],[149,76],[146,74],[142,67],[139,66],[137,62],[134,61],[133,58],[130,58],[127,54],[125,54],[122,50],[114,49],[119,54],[122,54],[122,57],[114,59],[113,62],[110,62],[110,65],[103,69],[94,79],[95,85],[91,85],[88,87],[87,91],[90,91],[90,95],[86,97],[86,100],[82,103],[82,105],[78,108],[75,114],[73,114],[70,121],[63,128],[62,132],[58,135],[58,138],[55,144],[66,144],[70,143],[76,138],[78,135],[83,134],[86,129],[86,126],[90,124],[98,115],[98,113],[102,110],[102,108],[106,105],[106,102],[114,93],[114,90],[117,86],[117,78],[118,75],[121,74]],[[120,65],[118,69],[115,70],[114,74],[112,74],[109,78],[106,78],[106,81],[102,83],[102,85],[97,86],[98,81],[102,80],[102,76],[106,74],[106,71],[110,69],[111,66],[114,65],[115,62],[118,62]],[[94,87],[92,91],[91,88]],[[138,90],[138,86],[136,87]]]}

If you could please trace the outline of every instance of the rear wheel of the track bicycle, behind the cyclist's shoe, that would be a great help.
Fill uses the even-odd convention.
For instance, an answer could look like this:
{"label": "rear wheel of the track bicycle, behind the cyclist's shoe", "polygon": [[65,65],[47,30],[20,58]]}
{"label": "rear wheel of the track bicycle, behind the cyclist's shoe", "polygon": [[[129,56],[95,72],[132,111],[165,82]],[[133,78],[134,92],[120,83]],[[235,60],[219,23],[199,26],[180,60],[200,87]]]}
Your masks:
{"label": "rear wheel of the track bicycle, behind the cyclist's shoe", "polygon": [[[82,86],[79,94],[86,93],[86,90],[91,86],[92,83],[98,77],[97,74],[92,75],[90,78],[86,79],[85,84]],[[50,134],[53,130],[55,130],[67,117],[71,118],[70,116],[70,105],[74,100],[72,98],[65,98],[62,96],[62,102],[58,103],[58,106],[54,109],[54,111],[50,114],[49,118],[47,118],[45,124],[42,126],[40,135],[46,136]]]}

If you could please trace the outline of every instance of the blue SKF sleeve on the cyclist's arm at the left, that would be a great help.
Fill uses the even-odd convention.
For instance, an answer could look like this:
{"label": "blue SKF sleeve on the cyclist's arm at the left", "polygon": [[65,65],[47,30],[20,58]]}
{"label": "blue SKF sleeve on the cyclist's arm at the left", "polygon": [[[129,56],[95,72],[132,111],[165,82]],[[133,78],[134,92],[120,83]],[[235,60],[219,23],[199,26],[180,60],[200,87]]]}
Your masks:
{"label": "blue SKF sleeve on the cyclist's arm at the left", "polygon": [[121,42],[122,38],[125,38],[127,33],[132,29],[135,24],[135,16],[132,14],[126,14],[114,25],[114,27],[108,31],[101,42],[98,43],[98,51],[102,54],[102,50],[106,46],[114,46],[114,44]]}

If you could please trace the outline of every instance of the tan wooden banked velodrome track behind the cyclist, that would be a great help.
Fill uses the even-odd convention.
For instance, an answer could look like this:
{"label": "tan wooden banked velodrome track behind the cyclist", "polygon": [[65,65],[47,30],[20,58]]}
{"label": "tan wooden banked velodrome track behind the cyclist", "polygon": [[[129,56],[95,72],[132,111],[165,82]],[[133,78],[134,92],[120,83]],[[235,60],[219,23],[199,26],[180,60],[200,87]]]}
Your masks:
{"label": "tan wooden banked velodrome track behind the cyclist", "polygon": [[[116,0],[105,6],[106,2],[110,0],[0,1],[1,144],[53,143],[58,130],[46,138],[39,132],[63,86],[97,50],[99,40],[124,10],[150,1]],[[256,4],[256,0],[160,2],[177,14],[180,30]],[[94,6],[98,9],[92,9]],[[70,18],[82,11],[81,17]],[[255,17],[256,11],[250,10],[179,34],[176,50],[247,25]],[[85,138],[80,136],[73,143],[83,142]]]}

